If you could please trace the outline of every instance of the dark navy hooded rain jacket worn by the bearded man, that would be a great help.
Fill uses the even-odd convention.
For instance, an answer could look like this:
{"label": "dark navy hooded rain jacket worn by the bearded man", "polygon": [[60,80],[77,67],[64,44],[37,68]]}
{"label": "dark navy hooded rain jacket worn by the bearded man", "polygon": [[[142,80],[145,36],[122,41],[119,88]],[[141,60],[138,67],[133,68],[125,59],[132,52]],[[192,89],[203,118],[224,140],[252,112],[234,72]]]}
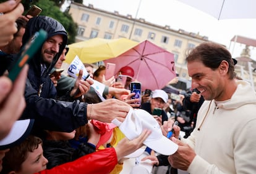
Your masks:
{"label": "dark navy hooded rain jacket worn by the bearded man", "polygon": [[[36,132],[40,132],[43,129],[72,132],[80,125],[87,123],[87,103],[80,102],[79,100],[73,102],[54,100],[56,89],[49,78],[49,72],[54,67],[67,44],[67,33],[61,23],[53,18],[45,16],[34,17],[27,23],[22,39],[23,44],[40,29],[48,32],[48,38],[56,34],[62,34],[63,43],[59,53],[54,57],[53,63],[46,65],[47,69],[42,75],[41,49],[36,52],[30,61],[25,87],[27,106],[22,114],[22,118],[35,119],[34,131]],[[35,133],[35,135],[38,134]]]}

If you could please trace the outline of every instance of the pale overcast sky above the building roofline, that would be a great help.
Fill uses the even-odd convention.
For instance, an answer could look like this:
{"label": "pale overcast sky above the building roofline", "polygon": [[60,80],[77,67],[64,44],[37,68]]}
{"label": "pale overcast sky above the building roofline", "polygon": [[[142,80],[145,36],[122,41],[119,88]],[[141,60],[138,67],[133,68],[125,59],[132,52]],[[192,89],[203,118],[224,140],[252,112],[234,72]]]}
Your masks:
{"label": "pale overcast sky above the building roofline", "polygon": [[[214,0],[213,0],[214,1]],[[121,15],[135,17],[139,0],[83,0],[83,4],[93,4],[97,9],[118,11]],[[174,30],[185,30],[207,36],[210,41],[224,44],[229,48],[235,35],[256,39],[256,19],[218,20],[211,15],[187,6],[177,0],[142,0],[137,18],[158,25],[169,25]],[[233,52],[231,44],[230,52]],[[244,45],[236,44],[233,57],[239,57]],[[256,48],[251,47],[251,56],[256,60]]]}

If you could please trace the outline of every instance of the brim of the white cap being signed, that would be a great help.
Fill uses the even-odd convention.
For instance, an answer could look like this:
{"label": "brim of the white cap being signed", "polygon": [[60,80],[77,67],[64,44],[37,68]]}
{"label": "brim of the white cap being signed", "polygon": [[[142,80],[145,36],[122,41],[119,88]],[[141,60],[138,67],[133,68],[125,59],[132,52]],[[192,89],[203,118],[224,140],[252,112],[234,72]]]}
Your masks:
{"label": "brim of the white cap being signed", "polygon": [[165,136],[162,136],[161,138],[159,138],[157,142],[158,143],[156,144],[156,141],[154,140],[153,141],[145,140],[143,144],[145,144],[146,146],[148,146],[148,148],[153,149],[154,151],[164,156],[172,155],[178,149],[178,145],[173,143],[173,141],[169,140]]}

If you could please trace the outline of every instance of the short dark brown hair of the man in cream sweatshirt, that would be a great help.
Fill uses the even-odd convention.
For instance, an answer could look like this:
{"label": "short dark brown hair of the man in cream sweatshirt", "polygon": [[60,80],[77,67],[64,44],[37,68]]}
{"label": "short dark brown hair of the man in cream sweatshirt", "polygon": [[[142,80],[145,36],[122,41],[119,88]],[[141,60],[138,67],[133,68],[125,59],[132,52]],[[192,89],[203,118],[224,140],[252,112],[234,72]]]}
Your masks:
{"label": "short dark brown hair of the man in cream sweatshirt", "polygon": [[186,60],[187,62],[195,60],[202,61],[203,65],[213,70],[217,69],[221,61],[225,60],[229,65],[229,79],[234,79],[235,77],[234,61],[231,53],[223,45],[214,42],[203,42],[189,52]]}

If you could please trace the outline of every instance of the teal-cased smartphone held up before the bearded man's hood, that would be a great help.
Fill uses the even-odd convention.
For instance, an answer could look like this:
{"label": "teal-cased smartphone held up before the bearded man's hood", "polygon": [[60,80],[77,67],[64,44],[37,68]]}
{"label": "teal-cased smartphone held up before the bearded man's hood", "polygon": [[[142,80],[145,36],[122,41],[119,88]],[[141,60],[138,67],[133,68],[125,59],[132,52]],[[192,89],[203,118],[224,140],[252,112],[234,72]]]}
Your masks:
{"label": "teal-cased smartphone held up before the bearded man's hood", "polygon": [[30,58],[35,55],[36,51],[41,48],[41,45],[45,42],[47,38],[47,32],[45,30],[40,30],[36,32],[25,44],[22,50],[20,50],[19,58],[15,61],[11,70],[9,71],[8,77],[15,81],[20,73],[20,70],[27,63]]}

